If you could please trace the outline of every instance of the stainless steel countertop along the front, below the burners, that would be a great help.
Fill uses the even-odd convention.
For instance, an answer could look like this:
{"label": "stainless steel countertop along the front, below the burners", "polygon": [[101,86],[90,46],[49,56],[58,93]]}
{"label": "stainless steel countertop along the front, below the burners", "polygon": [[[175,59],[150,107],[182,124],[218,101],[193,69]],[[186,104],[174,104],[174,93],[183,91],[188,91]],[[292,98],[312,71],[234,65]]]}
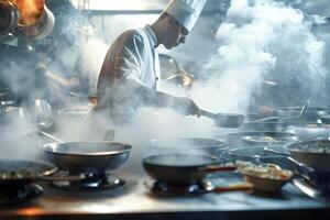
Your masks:
{"label": "stainless steel countertop along the front, below the burners", "polygon": [[[258,218],[271,211],[275,216],[277,213],[278,219],[287,219],[297,210],[300,210],[300,213],[310,210],[317,215],[329,210],[330,207],[328,201],[310,199],[292,185],[285,186],[282,195],[275,198],[243,191],[162,198],[153,196],[145,187],[143,174],[124,176],[122,170],[118,175],[127,179],[127,185],[118,191],[67,191],[43,185],[42,197],[26,206],[0,208],[0,216],[52,219],[61,215],[61,219],[74,219],[88,215],[90,219],[129,219],[131,215],[143,218],[152,213],[153,219],[169,219],[165,218],[166,215],[175,213],[176,218],[184,218],[194,212],[197,216],[202,213],[201,219],[219,219],[219,216],[230,217],[249,210]],[[276,219],[275,216],[273,219]]]}

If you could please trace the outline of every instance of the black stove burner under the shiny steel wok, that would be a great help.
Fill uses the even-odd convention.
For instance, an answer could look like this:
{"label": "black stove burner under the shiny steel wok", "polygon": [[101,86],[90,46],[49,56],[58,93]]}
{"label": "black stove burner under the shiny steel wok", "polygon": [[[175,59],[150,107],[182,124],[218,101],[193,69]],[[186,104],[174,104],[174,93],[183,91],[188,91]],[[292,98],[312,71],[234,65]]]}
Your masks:
{"label": "black stove burner under the shiny steel wok", "polygon": [[[64,173],[64,175],[68,174]],[[112,174],[85,174],[84,176],[86,176],[86,178],[81,180],[51,182],[51,185],[63,189],[114,189],[125,184],[123,179],[120,179],[119,177]]]}

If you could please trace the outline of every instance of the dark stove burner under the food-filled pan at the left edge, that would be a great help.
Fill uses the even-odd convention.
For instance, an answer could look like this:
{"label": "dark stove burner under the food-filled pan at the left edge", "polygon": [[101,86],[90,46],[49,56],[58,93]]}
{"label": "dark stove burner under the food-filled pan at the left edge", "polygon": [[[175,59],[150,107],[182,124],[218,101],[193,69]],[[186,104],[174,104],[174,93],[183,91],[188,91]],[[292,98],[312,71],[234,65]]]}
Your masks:
{"label": "dark stove burner under the food-filled pan at the left edge", "polygon": [[36,184],[29,184],[22,188],[0,190],[0,205],[21,204],[40,197],[43,188]]}

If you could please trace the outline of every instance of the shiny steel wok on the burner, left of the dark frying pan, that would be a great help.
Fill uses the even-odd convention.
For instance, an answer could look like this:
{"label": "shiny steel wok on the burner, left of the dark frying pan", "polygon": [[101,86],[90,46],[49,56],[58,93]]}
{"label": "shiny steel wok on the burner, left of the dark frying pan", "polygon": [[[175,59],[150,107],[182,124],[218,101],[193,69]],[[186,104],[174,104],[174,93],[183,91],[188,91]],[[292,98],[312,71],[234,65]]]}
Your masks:
{"label": "shiny steel wok on the burner, left of the dark frying pan", "polygon": [[125,163],[131,147],[114,142],[63,142],[50,143],[42,148],[51,162],[70,174],[102,175]]}

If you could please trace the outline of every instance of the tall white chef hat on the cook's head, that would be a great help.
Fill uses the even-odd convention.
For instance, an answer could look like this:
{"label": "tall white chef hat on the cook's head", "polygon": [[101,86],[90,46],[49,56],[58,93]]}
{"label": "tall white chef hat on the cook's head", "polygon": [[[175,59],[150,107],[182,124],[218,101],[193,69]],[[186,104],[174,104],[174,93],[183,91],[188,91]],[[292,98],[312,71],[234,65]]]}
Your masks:
{"label": "tall white chef hat on the cook's head", "polygon": [[189,32],[207,0],[172,0],[164,12],[173,15]]}

